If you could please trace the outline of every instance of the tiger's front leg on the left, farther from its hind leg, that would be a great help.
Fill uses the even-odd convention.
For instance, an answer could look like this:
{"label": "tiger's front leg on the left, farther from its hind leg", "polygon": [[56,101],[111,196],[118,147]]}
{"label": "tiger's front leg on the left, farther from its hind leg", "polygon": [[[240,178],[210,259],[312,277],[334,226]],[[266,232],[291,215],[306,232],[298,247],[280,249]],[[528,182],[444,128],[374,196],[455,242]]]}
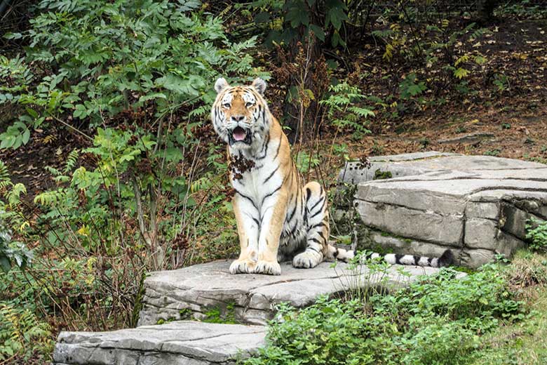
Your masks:
{"label": "tiger's front leg on the left, farther from its hind leg", "polygon": [[239,258],[230,265],[230,274],[255,272],[258,261],[259,212],[253,201],[239,194],[232,200],[238,227]]}

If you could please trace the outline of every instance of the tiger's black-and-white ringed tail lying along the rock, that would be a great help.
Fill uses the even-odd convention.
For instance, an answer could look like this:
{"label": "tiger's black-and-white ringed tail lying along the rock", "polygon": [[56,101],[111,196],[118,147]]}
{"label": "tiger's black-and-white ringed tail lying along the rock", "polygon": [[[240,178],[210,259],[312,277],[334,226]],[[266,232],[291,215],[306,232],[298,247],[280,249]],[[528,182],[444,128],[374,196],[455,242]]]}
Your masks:
{"label": "tiger's black-and-white ringed tail lying along the rock", "polygon": [[[355,251],[345,250],[344,248],[336,248],[329,245],[329,255],[327,258],[334,258],[336,260],[342,260],[348,262],[355,257]],[[439,258],[428,258],[426,256],[417,255],[400,255],[398,253],[387,253],[385,255],[381,253],[365,253],[363,260],[370,260],[374,258],[383,258],[386,263],[391,265],[415,265],[415,266],[431,266],[431,267],[447,267],[456,265],[456,258],[454,253],[450,250],[443,252]]]}

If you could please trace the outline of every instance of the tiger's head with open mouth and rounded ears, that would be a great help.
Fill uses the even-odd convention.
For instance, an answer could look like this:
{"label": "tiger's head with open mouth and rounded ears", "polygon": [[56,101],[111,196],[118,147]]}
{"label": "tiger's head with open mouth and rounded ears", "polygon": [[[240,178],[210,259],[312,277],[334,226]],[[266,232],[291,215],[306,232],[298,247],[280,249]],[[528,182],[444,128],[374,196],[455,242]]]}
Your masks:
{"label": "tiger's head with open mouth and rounded ears", "polygon": [[265,90],[266,81],[259,78],[250,86],[229,86],[223,78],[215,82],[212,125],[231,149],[252,150],[268,134],[271,117],[263,96]]}

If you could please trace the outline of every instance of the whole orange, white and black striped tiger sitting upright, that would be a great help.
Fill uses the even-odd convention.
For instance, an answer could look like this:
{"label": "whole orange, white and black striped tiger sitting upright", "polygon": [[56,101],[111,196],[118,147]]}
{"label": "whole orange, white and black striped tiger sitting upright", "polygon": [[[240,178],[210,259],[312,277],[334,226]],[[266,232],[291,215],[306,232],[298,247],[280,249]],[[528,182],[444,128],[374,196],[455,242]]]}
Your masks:
{"label": "whole orange, white and black striped tiger sitting upright", "polygon": [[[327,195],[315,181],[304,185],[290,157],[281,124],[270,113],[266,82],[229,86],[218,79],[212,105],[215,131],[228,145],[230,179],[235,194],[241,253],[231,274],[281,274],[279,262],[292,259],[295,267],[315,267],[323,260],[349,260],[353,251],[328,244]],[[445,255],[451,255],[447,251]],[[384,255],[389,263],[441,266],[447,258]],[[373,257],[377,257],[374,254]]]}

